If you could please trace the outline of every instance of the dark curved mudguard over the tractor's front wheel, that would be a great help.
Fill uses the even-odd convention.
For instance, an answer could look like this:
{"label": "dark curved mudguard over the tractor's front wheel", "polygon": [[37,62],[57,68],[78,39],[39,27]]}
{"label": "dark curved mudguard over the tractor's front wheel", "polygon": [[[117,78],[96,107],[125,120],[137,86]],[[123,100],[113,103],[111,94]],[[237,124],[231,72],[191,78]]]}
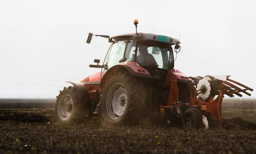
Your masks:
{"label": "dark curved mudguard over the tractor's front wheel", "polygon": [[84,86],[84,84],[82,84],[81,82],[77,82],[77,81],[66,81],[66,83],[73,84],[73,86],[76,88],[79,103],[81,105],[87,106],[90,103],[89,102],[89,93],[88,93],[87,88]]}

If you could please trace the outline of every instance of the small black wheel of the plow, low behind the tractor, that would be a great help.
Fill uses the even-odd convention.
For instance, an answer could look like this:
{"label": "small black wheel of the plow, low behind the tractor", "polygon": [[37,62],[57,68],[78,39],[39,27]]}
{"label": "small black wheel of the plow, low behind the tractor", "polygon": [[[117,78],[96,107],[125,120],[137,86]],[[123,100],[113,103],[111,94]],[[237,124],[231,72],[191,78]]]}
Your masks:
{"label": "small black wheel of the plow, low behind the tractor", "polygon": [[182,119],[184,128],[201,128],[203,125],[203,117],[201,112],[196,108],[187,109],[184,114],[189,117],[189,120]]}

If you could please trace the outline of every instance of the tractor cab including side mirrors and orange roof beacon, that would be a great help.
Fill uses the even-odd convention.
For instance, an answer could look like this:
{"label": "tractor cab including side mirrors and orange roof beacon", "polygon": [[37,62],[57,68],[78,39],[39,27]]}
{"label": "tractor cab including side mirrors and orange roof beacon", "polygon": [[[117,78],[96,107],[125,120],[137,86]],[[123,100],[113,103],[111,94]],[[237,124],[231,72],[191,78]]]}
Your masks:
{"label": "tractor cab including side mirrors and orange roof beacon", "polygon": [[[145,68],[154,78],[164,79],[166,73],[174,68],[174,49],[180,49],[180,41],[175,38],[152,33],[137,33],[137,21],[134,21],[136,33],[120,34],[114,36],[95,35],[108,38],[111,46],[103,65],[90,65],[90,67],[104,68],[105,74],[112,67],[122,64],[134,64]],[[93,34],[89,33],[87,43],[90,43]],[[97,60],[99,61],[99,60]],[[157,73],[156,73],[157,71]]]}

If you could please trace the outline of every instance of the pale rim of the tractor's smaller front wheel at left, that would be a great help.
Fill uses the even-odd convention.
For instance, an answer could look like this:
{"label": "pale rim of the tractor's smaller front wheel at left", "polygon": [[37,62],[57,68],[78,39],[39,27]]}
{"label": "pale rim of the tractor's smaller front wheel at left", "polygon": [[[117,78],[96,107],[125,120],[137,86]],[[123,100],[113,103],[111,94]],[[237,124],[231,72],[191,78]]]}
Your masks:
{"label": "pale rim of the tractor's smaller front wheel at left", "polygon": [[58,116],[61,120],[67,120],[73,109],[73,101],[70,95],[64,95],[61,97],[60,103],[58,105]]}

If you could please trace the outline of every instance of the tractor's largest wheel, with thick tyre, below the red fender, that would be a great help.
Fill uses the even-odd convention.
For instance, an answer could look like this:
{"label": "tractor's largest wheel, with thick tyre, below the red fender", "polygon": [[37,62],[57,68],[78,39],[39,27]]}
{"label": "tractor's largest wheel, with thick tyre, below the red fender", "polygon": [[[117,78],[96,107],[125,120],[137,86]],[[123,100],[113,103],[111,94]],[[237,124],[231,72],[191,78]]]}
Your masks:
{"label": "tractor's largest wheel, with thick tyre, below the red fender", "polygon": [[133,125],[143,116],[146,91],[143,81],[131,73],[111,76],[102,93],[102,121],[112,125]]}

